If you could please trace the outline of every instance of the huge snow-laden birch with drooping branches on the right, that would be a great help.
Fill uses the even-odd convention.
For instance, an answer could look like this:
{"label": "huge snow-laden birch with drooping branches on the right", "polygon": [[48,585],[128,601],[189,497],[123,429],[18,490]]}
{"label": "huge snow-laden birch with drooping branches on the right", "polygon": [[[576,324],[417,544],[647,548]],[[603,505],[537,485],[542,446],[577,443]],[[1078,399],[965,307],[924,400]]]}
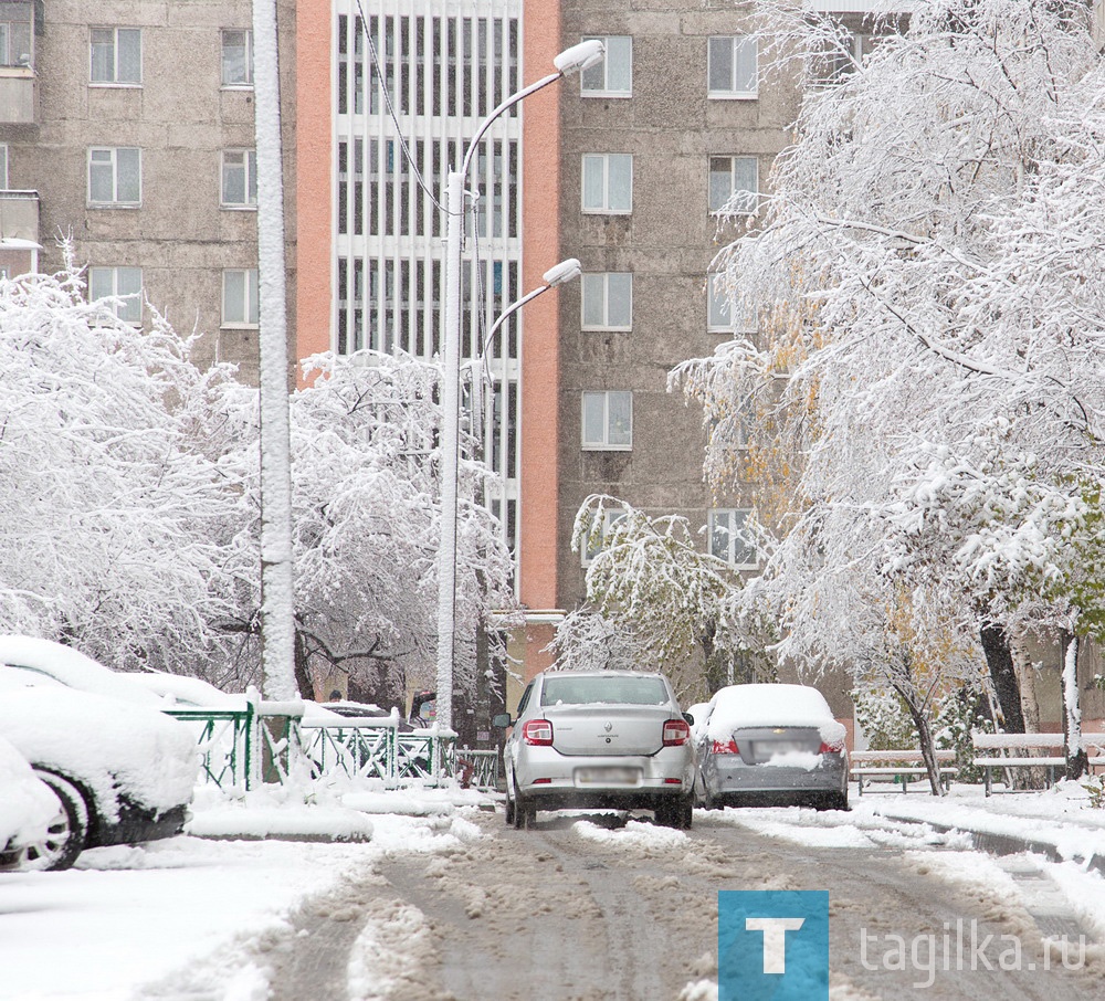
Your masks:
{"label": "huge snow-laden birch with drooping branches on the right", "polygon": [[[815,65],[840,38],[810,12],[759,9],[781,59]],[[810,89],[765,218],[722,259],[760,338],[684,368],[684,384],[715,422],[787,376],[793,542],[765,573],[790,589],[781,608],[821,579],[804,573],[815,541],[822,576],[859,566],[895,591],[937,589],[956,631],[1085,634],[1105,440],[1087,9],[919,2],[850,70]],[[716,444],[707,470],[725,475]]]}

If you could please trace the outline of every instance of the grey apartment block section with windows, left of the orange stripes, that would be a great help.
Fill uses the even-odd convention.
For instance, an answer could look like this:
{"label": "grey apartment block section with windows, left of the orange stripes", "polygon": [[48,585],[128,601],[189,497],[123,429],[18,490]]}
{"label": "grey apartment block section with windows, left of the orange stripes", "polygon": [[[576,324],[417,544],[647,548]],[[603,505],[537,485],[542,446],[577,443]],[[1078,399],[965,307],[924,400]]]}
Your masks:
{"label": "grey apartment block section with windows, left of the orange stripes", "polygon": [[[294,51],[294,20],[283,23]],[[252,53],[250,0],[0,2],[0,253],[22,250],[10,266],[54,271],[64,241],[92,297],[122,296],[136,324],[156,308],[181,333],[202,333],[200,360],[235,362],[255,380]]]}

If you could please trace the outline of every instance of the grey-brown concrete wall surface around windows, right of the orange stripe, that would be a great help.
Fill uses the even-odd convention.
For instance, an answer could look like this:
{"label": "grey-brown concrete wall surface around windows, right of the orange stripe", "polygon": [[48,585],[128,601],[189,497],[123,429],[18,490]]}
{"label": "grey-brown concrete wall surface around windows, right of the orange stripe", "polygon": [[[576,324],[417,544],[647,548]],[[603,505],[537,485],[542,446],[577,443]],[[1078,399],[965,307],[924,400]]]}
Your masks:
{"label": "grey-brown concrete wall surface around windows, right of the orange stripe", "polygon": [[[589,494],[608,493],[650,514],[680,514],[695,528],[707,524],[712,507],[739,505],[739,497],[711,498],[702,481],[702,413],[667,391],[667,375],[728,336],[707,333],[706,323],[706,275],[718,250],[707,200],[709,157],[755,156],[762,186],[787,143],[798,91],[767,74],[761,60],[754,99],[707,96],[709,38],[750,30],[732,3],[569,0],[562,9],[565,45],[629,35],[633,52],[632,96],[581,96],[579,82],[570,81],[561,99],[562,256],[579,257],[585,274],[633,274],[630,331],[582,330],[580,286],[560,297],[557,551],[559,602],[572,608],[583,597],[585,570],[570,549],[571,529]],[[582,157],[602,152],[633,157],[628,215],[581,211]],[[581,394],[591,390],[633,393],[631,451],[581,447]]]}

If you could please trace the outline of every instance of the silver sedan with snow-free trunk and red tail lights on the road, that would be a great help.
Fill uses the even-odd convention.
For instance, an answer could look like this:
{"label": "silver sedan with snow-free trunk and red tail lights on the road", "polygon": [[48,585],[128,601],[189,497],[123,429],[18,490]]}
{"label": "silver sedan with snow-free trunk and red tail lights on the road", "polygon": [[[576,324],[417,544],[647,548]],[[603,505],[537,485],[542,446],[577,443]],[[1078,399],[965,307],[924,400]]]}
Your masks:
{"label": "silver sedan with snow-free trunk and red tail lights on the road", "polygon": [[690,828],[695,779],[691,727],[662,674],[546,671],[528,685],[503,749],[506,821],[538,810],[652,810]]}

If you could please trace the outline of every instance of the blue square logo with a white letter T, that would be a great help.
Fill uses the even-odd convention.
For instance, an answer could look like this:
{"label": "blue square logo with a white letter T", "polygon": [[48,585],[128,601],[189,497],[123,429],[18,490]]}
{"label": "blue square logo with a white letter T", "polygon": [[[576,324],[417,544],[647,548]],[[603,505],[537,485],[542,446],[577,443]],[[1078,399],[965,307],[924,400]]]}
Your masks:
{"label": "blue square logo with a white letter T", "polygon": [[717,894],[718,1001],[829,1001],[829,892]]}

